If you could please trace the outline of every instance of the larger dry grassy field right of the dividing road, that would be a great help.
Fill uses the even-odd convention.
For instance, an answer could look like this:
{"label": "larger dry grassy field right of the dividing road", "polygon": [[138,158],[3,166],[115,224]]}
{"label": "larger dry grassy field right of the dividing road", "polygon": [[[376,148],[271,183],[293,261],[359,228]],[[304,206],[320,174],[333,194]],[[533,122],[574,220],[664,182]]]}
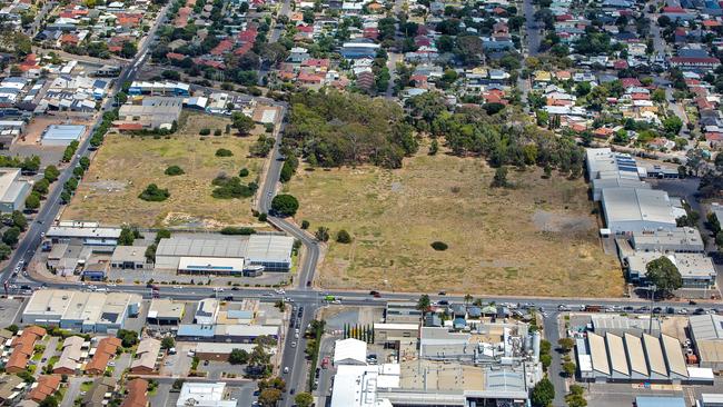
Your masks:
{"label": "larger dry grassy field right of the dividing road", "polygon": [[[483,160],[417,156],[403,169],[299,170],[289,187],[310,230],[347,229],[329,244],[324,287],[539,296],[621,296],[615,257],[596,237],[583,180],[509,171],[492,189]],[[433,241],[448,245],[435,251]],[[386,281],[386,282],[385,282]]]}

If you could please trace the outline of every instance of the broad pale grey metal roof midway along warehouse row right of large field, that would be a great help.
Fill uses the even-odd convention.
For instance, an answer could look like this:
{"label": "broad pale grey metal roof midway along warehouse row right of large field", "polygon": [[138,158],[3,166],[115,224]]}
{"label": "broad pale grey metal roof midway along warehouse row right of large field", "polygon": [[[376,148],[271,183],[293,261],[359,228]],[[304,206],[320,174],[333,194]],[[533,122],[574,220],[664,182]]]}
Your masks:
{"label": "broad pale grey metal roof midway along warehouse row right of large field", "polygon": [[602,202],[607,228],[615,234],[673,229],[677,226],[665,191],[606,188],[602,192]]}

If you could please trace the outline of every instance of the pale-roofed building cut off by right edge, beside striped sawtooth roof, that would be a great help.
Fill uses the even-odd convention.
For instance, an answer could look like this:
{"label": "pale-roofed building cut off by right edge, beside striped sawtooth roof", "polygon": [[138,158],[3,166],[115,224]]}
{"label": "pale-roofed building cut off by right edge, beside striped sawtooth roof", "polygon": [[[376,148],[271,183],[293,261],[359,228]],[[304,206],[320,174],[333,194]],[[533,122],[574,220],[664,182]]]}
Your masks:
{"label": "pale-roofed building cut off by right edge, beside striped sawtooth roof", "polygon": [[701,367],[723,371],[723,317],[694,315],[689,318],[689,331]]}

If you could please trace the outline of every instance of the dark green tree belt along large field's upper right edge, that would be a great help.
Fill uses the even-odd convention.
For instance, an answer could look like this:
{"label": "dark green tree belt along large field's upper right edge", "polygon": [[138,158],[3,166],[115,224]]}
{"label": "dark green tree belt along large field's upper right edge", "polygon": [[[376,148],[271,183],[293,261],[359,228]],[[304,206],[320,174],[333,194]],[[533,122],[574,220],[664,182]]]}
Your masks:
{"label": "dark green tree belt along large field's upper right edge", "polygon": [[493,167],[541,166],[576,178],[583,173],[584,150],[571,137],[537,128],[524,115],[488,115],[481,108],[449,112],[440,93],[407,100],[410,120],[432,137],[445,137],[456,156],[482,156]]}

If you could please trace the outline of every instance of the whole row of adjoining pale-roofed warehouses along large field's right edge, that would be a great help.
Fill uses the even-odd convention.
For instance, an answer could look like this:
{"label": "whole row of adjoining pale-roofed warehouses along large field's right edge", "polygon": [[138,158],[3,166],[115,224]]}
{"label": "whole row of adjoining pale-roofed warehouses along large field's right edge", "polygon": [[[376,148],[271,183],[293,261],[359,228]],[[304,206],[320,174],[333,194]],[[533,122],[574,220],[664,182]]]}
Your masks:
{"label": "whole row of adjoining pale-roofed warehouses along large field's right edge", "polygon": [[644,285],[647,264],[665,256],[681,274],[683,288],[709,297],[716,270],[695,228],[679,227],[687,215],[684,202],[643,181],[647,170],[626,153],[608,148],[586,150],[593,200],[600,201],[606,228],[630,282]]}

